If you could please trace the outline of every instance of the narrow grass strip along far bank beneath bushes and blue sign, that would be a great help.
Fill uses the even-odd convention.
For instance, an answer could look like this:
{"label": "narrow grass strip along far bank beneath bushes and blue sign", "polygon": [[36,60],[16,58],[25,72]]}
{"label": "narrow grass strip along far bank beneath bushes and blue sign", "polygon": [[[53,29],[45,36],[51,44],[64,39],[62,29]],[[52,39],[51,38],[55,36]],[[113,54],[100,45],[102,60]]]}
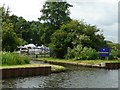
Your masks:
{"label": "narrow grass strip along far bank beneath bushes and blue sign", "polygon": [[81,63],[81,64],[91,64],[91,65],[98,65],[101,63],[117,63],[120,60],[67,60],[67,59],[57,59],[57,58],[38,58],[37,60],[43,61],[53,61],[53,62],[63,62],[63,63]]}

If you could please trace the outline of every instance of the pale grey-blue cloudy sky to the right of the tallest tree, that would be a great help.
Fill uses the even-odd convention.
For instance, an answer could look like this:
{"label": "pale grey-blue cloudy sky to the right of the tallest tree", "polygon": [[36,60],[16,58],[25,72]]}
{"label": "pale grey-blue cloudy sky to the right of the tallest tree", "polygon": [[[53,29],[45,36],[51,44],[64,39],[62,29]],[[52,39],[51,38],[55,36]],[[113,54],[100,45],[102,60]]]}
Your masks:
{"label": "pale grey-blue cloudy sky to the right of the tallest tree", "polygon": [[[118,4],[107,2],[74,2],[71,17],[84,19],[103,30],[107,40],[118,41]],[[112,39],[111,39],[112,37]]]}

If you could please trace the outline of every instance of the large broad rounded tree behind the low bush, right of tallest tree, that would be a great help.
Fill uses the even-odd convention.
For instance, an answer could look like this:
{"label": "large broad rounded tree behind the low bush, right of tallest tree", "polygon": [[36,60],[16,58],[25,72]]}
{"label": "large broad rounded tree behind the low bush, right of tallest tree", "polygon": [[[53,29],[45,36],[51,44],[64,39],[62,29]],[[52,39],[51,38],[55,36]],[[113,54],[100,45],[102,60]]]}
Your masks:
{"label": "large broad rounded tree behind the low bush, right of tallest tree", "polygon": [[51,44],[54,45],[52,49],[53,51],[58,50],[56,53],[63,54],[63,56],[58,54],[56,57],[64,57],[67,54],[67,47],[75,49],[79,45],[82,45],[82,48],[87,47],[98,51],[100,47],[106,44],[104,37],[101,34],[96,34],[97,32],[99,32],[99,30],[95,26],[87,25],[83,21],[72,20],[67,24],[63,24],[61,28],[51,36]]}

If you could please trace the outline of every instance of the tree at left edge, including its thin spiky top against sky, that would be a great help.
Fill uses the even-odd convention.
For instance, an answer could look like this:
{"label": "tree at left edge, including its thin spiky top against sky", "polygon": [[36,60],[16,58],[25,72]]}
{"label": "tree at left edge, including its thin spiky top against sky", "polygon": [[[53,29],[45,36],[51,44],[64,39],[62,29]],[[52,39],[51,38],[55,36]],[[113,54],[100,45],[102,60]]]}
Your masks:
{"label": "tree at left edge, including its thin spiky top against sky", "polygon": [[18,38],[14,32],[14,24],[10,19],[9,8],[0,7],[2,14],[2,49],[5,51],[14,51],[17,46],[22,44],[23,39]]}

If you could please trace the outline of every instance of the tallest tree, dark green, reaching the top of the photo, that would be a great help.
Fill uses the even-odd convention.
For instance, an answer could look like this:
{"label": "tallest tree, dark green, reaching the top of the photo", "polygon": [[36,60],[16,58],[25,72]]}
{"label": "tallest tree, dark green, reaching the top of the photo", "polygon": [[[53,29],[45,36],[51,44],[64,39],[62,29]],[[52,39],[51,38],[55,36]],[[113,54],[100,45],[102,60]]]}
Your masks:
{"label": "tallest tree, dark green, reaching the top of the photo", "polygon": [[58,1],[59,0],[55,0],[54,2],[45,2],[43,9],[41,10],[42,15],[39,20],[45,24],[45,33],[43,34],[45,44],[50,42],[50,36],[59,29],[62,24],[71,20],[69,16],[69,8],[72,5],[67,2]]}

